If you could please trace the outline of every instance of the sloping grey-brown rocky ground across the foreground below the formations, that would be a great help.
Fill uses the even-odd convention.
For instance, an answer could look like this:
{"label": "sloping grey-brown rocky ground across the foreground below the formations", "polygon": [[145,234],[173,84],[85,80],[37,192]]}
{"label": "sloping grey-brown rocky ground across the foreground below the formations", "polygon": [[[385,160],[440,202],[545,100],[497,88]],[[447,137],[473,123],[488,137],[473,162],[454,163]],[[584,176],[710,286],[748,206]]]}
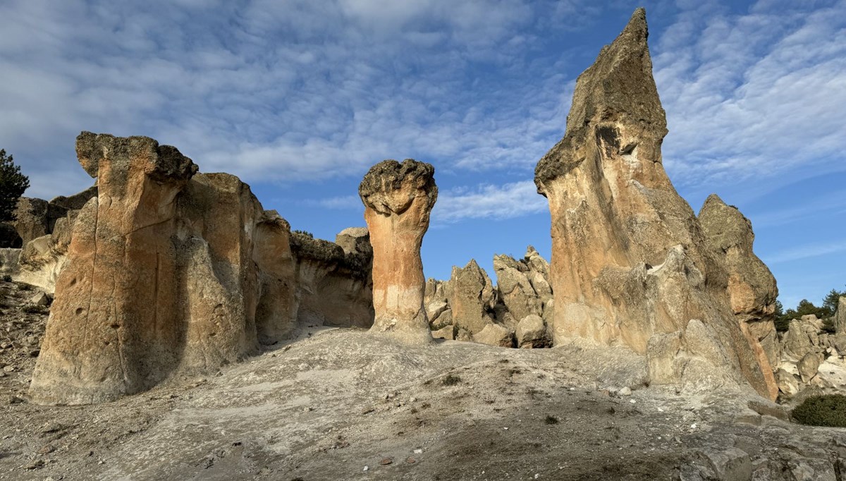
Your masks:
{"label": "sloping grey-brown rocky ground across the foreground below the formations", "polygon": [[846,475],[843,430],[789,423],[731,390],[646,386],[643,362],[619,349],[406,348],[312,328],[206,379],[37,406],[25,388],[46,314],[27,307],[26,285],[0,289],[0,364],[12,367],[0,378],[0,479]]}

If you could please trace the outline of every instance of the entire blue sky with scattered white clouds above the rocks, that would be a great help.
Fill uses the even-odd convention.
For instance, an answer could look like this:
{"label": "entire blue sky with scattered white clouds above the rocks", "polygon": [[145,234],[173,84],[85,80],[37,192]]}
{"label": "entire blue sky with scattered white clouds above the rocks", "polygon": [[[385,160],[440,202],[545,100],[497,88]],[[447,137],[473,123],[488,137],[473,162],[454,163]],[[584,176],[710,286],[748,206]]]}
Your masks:
{"label": "entire blue sky with scattered white clouds above the rocks", "polygon": [[373,163],[416,158],[440,189],[426,275],[493,274],[549,257],[533,169],[640,5],[679,193],[752,220],[785,306],[846,289],[844,0],[3,0],[0,147],[52,198],[91,185],[80,130],[149,135],[330,240],[364,225]]}

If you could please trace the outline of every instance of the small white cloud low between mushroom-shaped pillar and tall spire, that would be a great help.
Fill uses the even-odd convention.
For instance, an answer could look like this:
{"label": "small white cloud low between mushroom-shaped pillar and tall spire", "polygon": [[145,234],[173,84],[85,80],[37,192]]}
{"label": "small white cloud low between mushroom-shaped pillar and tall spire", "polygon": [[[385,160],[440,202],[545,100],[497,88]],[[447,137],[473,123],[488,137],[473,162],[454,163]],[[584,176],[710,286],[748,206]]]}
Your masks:
{"label": "small white cloud low between mushroom-shaped pillar and tall spire", "polygon": [[537,193],[535,182],[478,185],[438,193],[433,223],[453,223],[466,218],[505,219],[547,211],[547,199]]}

